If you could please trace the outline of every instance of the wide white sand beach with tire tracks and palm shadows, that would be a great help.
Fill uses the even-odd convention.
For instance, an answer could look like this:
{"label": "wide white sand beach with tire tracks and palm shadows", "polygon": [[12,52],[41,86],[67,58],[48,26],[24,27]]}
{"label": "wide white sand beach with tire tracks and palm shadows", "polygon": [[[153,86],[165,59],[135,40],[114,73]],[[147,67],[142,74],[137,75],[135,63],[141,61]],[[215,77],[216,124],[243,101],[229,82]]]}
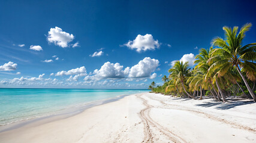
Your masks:
{"label": "wide white sand beach with tire tracks and palm shadows", "polygon": [[1,132],[0,142],[256,142],[256,104],[135,94]]}

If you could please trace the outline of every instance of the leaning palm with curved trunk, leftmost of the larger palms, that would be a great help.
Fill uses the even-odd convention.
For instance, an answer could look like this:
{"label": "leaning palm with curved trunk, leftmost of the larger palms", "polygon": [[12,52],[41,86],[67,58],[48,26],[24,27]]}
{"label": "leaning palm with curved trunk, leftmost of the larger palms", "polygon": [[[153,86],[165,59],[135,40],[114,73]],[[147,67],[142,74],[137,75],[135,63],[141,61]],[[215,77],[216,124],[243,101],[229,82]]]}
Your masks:
{"label": "leaning palm with curved trunk, leftmost of the larger palms", "polygon": [[185,80],[188,78],[188,74],[189,74],[188,62],[183,64],[182,61],[176,61],[174,66],[171,69],[169,69],[168,72],[170,73],[170,77],[172,79],[177,79],[177,82],[181,83],[182,88],[184,89],[188,97],[195,99],[186,91],[186,88],[184,85]]}

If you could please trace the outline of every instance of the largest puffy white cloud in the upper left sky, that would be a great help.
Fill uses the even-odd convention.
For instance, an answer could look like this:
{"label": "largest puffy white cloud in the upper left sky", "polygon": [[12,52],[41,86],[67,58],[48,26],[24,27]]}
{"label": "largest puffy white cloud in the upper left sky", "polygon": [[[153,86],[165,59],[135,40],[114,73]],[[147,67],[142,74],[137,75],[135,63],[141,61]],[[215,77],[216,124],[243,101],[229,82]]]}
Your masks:
{"label": "largest puffy white cloud in the upper left sky", "polygon": [[74,40],[74,35],[62,31],[62,29],[59,27],[55,27],[51,28],[48,32],[47,40],[50,43],[55,43],[55,45],[66,48],[68,43]]}

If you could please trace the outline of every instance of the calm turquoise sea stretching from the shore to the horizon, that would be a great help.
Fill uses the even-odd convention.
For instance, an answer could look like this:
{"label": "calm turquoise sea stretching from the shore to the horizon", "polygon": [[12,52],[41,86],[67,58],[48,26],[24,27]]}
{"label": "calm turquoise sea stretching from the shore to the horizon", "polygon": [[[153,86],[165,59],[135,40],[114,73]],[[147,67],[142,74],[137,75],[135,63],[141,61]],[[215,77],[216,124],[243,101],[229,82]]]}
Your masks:
{"label": "calm turquoise sea stretching from the shore to the horizon", "polygon": [[0,125],[49,116],[67,108],[146,90],[0,89]]}

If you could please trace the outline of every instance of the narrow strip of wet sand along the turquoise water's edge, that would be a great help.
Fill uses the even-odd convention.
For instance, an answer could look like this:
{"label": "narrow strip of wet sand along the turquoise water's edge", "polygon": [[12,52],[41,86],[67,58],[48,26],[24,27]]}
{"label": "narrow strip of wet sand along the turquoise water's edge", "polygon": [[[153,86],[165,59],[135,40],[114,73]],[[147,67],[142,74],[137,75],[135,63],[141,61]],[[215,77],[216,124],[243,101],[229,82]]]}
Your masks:
{"label": "narrow strip of wet sand along the turquoise water's edge", "polygon": [[[133,95],[133,94],[131,94],[131,95]],[[127,96],[129,96],[129,95],[125,94],[125,95],[118,95],[117,97],[113,97],[113,98],[107,98],[104,100],[91,101],[91,102],[87,102],[82,105],[72,106],[72,107],[58,110],[54,114],[46,114],[41,117],[34,117],[32,119],[24,119],[24,120],[18,120],[13,123],[7,123],[6,125],[0,126],[0,133],[8,131],[8,130],[21,128],[22,126],[26,126],[29,124],[31,124],[31,125],[39,125],[40,124],[41,125],[44,123],[53,122],[55,120],[61,120],[61,119],[65,119],[68,117],[72,117],[72,116],[75,116],[76,114],[82,113],[83,111],[87,110],[88,108],[92,108],[92,107],[95,107],[98,105],[107,104],[109,102],[115,102],[115,101],[121,100],[122,98],[127,97]]]}

